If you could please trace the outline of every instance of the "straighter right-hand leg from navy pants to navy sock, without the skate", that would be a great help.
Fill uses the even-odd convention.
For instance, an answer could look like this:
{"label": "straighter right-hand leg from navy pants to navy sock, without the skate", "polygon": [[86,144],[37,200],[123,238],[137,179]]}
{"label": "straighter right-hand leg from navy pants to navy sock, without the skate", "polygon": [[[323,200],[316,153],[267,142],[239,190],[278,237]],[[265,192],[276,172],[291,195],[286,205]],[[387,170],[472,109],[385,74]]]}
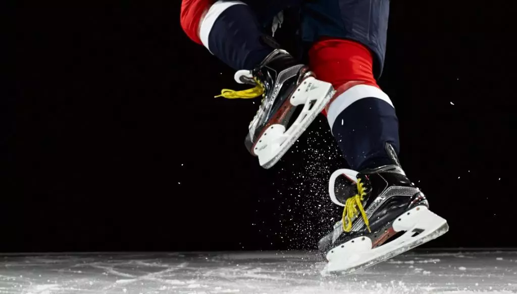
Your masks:
{"label": "straighter right-hand leg from navy pants to navy sock, without the skate", "polygon": [[390,163],[385,145],[399,152],[398,119],[375,81],[384,65],[389,0],[317,0],[304,13],[304,38],[315,41],[310,67],[338,90],[326,115],[345,159],[356,170]]}

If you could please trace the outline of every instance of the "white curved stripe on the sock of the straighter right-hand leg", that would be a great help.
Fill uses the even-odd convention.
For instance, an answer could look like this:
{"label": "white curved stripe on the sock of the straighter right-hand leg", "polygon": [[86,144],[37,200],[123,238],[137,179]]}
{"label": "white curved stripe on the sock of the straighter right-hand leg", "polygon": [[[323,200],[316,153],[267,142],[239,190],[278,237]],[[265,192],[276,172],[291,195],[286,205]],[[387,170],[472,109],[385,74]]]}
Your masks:
{"label": "white curved stripe on the sock of the straighter right-hand leg", "polygon": [[363,99],[363,98],[378,98],[385,102],[387,102],[391,107],[394,108],[393,103],[389,99],[388,95],[383,92],[381,89],[370,86],[370,85],[356,85],[348,90],[344,91],[341,95],[339,95],[336,100],[330,103],[327,111],[327,120],[330,125],[330,130],[334,126],[334,121],[338,115],[343,112],[346,107],[352,105],[352,103]]}

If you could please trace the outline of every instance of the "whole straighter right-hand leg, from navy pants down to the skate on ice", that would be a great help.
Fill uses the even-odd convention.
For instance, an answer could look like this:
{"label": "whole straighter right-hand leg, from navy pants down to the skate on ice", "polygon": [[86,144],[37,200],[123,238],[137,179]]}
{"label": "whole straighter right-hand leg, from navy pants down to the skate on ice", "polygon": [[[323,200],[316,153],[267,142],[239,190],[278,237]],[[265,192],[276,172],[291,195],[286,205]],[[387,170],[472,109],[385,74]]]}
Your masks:
{"label": "whole straighter right-hand leg, from navy pants down to the skate on ice", "polygon": [[398,119],[375,81],[384,64],[388,8],[389,0],[315,0],[303,11],[303,37],[313,41],[311,69],[337,89],[325,114],[353,168],[330,180],[343,218],[319,244],[329,271],[372,266],[448,230],[400,166]]}

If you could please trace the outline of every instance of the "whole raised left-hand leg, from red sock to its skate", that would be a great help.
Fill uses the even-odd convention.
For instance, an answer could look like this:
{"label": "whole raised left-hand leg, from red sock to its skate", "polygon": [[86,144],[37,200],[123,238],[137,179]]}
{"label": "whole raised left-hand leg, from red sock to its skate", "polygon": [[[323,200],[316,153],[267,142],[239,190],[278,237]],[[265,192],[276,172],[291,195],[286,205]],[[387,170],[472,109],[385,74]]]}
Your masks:
{"label": "whole raised left-hand leg, from red sock to its skate", "polygon": [[[184,0],[182,3],[181,23],[186,33],[238,70],[235,75],[238,83],[255,86],[242,91],[225,89],[220,96],[264,97],[250,122],[245,142],[265,168],[273,166],[294,144],[328,103],[332,92],[329,83],[315,80],[305,65],[288,52],[275,48],[274,42],[267,41],[254,13],[259,10],[257,5],[267,8],[261,12],[261,19],[264,19],[269,8],[297,1],[271,0],[261,4],[255,0],[252,4],[255,9],[240,1],[211,4]],[[292,119],[298,106],[302,107],[302,113]]]}

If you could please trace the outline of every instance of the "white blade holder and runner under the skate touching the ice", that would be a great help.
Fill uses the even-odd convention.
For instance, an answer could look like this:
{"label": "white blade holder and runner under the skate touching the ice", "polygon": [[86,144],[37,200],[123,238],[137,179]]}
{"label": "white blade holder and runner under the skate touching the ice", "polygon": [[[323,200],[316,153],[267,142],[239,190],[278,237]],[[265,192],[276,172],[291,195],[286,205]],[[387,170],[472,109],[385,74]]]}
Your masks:
{"label": "white blade holder and runner under the skate touching the ice", "polygon": [[[447,221],[430,211],[427,206],[414,207],[399,215],[386,231],[360,236],[334,247],[326,256],[328,264],[324,272],[347,274],[359,268],[370,267],[436,239],[448,230]],[[403,234],[385,243],[389,236],[396,233]],[[379,240],[384,244],[374,246]]]}

